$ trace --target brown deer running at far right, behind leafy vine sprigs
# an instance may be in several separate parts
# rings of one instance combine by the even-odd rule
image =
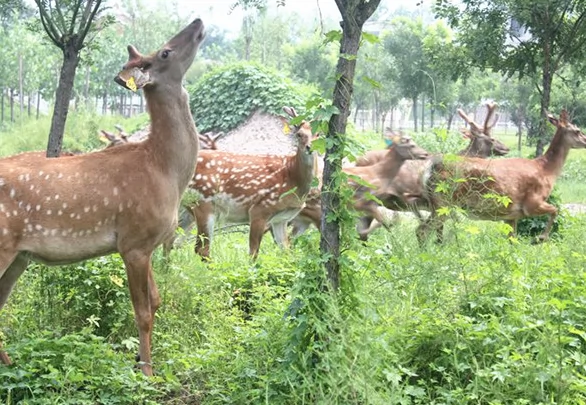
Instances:
[[[549,220],[539,241],[545,241],[557,209],[546,200],[551,194],[557,177],[572,148],[586,148],[586,136],[568,119],[563,110],[557,119],[547,114],[556,126],[556,133],[543,156],[535,159],[510,158],[487,160],[464,157],[457,161],[443,161],[438,157],[424,174],[424,188],[431,206],[429,221],[418,228],[420,241],[427,231],[435,228],[441,242],[441,227],[445,216],[438,216],[440,207],[456,206],[464,209],[472,218],[504,220],[511,225],[511,235],[516,233],[517,220],[525,217],[549,215]],[[448,193],[436,191],[440,182],[450,182]]]

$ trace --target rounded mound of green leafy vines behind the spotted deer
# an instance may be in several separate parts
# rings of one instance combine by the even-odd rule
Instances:
[[[189,88],[191,112],[201,132],[229,131],[256,110],[282,115],[288,105],[301,113],[313,93],[307,85],[251,63],[217,68]]]

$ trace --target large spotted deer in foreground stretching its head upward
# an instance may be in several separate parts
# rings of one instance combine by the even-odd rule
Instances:
[[[161,303],[151,255],[175,232],[197,160],[197,130],[182,81],[203,38],[196,19],[149,55],[128,47],[129,60],[115,80],[143,89],[152,123],[148,140],[63,159],[25,153],[0,160],[0,308],[30,260],[61,265],[119,252],[145,375],[152,375],[151,334]],[[0,359],[10,363],[3,351]]]

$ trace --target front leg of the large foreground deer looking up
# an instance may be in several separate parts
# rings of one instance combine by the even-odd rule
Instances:
[[[151,336],[155,311],[160,304],[159,293],[152,275],[152,251],[120,249],[120,255],[126,266],[130,299],[138,328],[140,368],[144,375],[152,376]]]

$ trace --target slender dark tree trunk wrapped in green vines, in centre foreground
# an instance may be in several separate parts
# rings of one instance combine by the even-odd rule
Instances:
[[[380,0],[336,0],[342,15],[342,39],[333,97],[333,106],[337,109],[337,113],[330,118],[326,135],[319,244],[333,291],[337,291],[340,286],[340,223],[334,219],[335,213],[341,208],[337,183],[342,169],[342,152],[354,88],[356,57],[360,48],[362,27],[379,3]]]

